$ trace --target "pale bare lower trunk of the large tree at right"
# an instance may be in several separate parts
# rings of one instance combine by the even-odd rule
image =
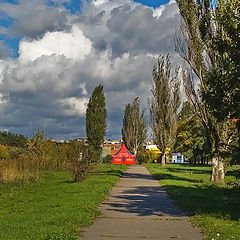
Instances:
[[[224,177],[225,171],[223,159],[221,157],[213,157],[211,181],[222,183],[224,182]]]

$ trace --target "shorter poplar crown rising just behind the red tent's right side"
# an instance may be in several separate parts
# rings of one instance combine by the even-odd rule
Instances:
[[[134,155],[143,147],[147,135],[147,123],[144,113],[145,110],[140,112],[138,97],[125,106],[122,139],[126,147]]]

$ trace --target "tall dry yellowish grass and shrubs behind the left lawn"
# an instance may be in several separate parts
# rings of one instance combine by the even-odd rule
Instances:
[[[40,171],[51,169],[72,169],[74,178],[80,169],[83,179],[90,162],[80,159],[85,148],[77,141],[57,145],[40,131],[27,141],[25,148],[0,146],[0,183],[38,179]]]

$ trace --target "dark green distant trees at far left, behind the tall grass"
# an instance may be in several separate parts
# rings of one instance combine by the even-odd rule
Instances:
[[[26,146],[26,142],[27,138],[22,134],[18,135],[0,131],[0,145],[24,148]]]

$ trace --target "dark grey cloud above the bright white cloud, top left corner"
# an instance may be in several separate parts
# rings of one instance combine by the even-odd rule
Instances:
[[[0,11],[13,20],[6,35],[38,38],[47,31],[67,28],[69,13],[60,5],[47,5],[43,0],[20,0],[18,4],[0,3]]]

